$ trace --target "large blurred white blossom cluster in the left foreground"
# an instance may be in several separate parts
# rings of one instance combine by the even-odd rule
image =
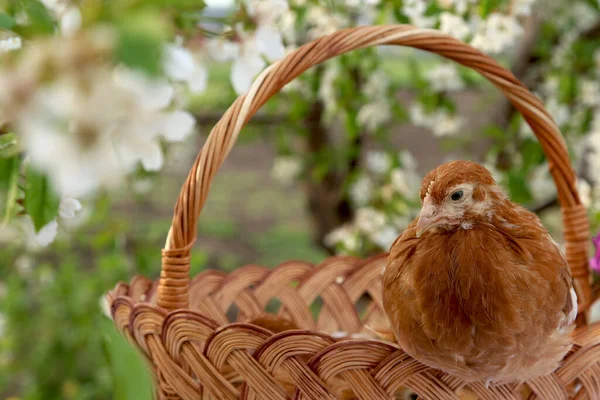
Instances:
[[[65,63],[66,68],[67,56],[76,57],[69,53],[76,40],[61,43],[66,48],[55,49],[57,54],[50,57],[67,55],[51,61]],[[34,73],[49,62],[43,51],[32,48],[30,58],[25,57],[32,64],[25,66]],[[10,96],[0,103],[16,110],[6,115],[21,133],[31,163],[46,171],[61,195],[79,197],[112,187],[138,162],[156,171],[163,164],[159,138],[180,141],[193,130],[191,115],[167,111],[174,90],[166,80],[124,67],[86,66],[76,72],[60,68],[57,65],[54,80],[39,87],[35,75],[22,72],[26,68],[19,71],[23,76],[0,79],[0,92],[13,93],[24,85],[31,90],[27,101],[14,108],[7,108],[13,106]]]

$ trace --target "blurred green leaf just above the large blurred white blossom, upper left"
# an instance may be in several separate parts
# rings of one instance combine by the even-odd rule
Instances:
[[[129,14],[119,23],[119,39],[115,50],[117,62],[159,75],[163,44],[169,37],[169,26],[157,12]]]

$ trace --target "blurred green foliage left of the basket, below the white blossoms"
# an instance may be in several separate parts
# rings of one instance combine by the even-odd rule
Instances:
[[[160,247],[152,235],[133,234],[135,222],[116,216],[108,197],[100,203],[73,240],[31,256],[15,247],[0,252],[0,396],[151,398],[145,366],[102,314],[100,299],[134,270],[155,273]]]

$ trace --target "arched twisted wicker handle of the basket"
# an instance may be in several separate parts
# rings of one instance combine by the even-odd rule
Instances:
[[[383,44],[426,50],[470,67],[498,87],[521,112],[541,143],[558,189],[566,256],[580,313],[589,307],[592,292],[587,257],[590,234],[587,213],[577,193],[575,172],[564,138],[552,117],[525,85],[491,57],[440,31],[410,25],[342,29],[307,43],[265,69],[248,92],[229,107],[210,132],[177,199],[162,253],[157,299],[160,307],[174,310],[188,306],[190,249],[196,240],[198,217],[213,177],[244,125],[267,100],[308,68],[355,49]]]

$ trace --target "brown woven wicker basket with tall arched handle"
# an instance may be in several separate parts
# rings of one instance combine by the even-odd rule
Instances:
[[[423,399],[458,399],[459,379],[428,368],[399,347],[376,340],[337,340],[322,332],[361,332],[383,315],[381,271],[386,255],[367,260],[332,257],[319,265],[286,262],[274,269],[248,265],[227,275],[189,278],[196,223],[215,173],[242,127],[285,84],[337,55],[393,44],[437,53],[486,77],[524,115],[546,154],[562,207],[566,253],[579,297],[572,351],[549,376],[520,385],[469,384],[480,399],[600,399],[600,325],[587,325],[592,301],[589,227],[575,189],[564,140],[541,102],[492,58],[436,30],[407,25],[345,29],[308,43],[267,68],[213,128],[183,185],[160,279],[134,277],[107,294],[117,328],[155,372],[160,399],[326,399],[344,383],[360,399],[390,399],[408,387]],[[369,298],[366,306],[359,299]],[[273,299],[279,315],[305,330],[271,334],[244,323]],[[322,302],[315,319],[310,307]],[[358,304],[360,303],[360,307]],[[237,321],[227,319],[236,308]],[[359,308],[362,310],[359,311]],[[287,373],[286,387],[278,371]]]

